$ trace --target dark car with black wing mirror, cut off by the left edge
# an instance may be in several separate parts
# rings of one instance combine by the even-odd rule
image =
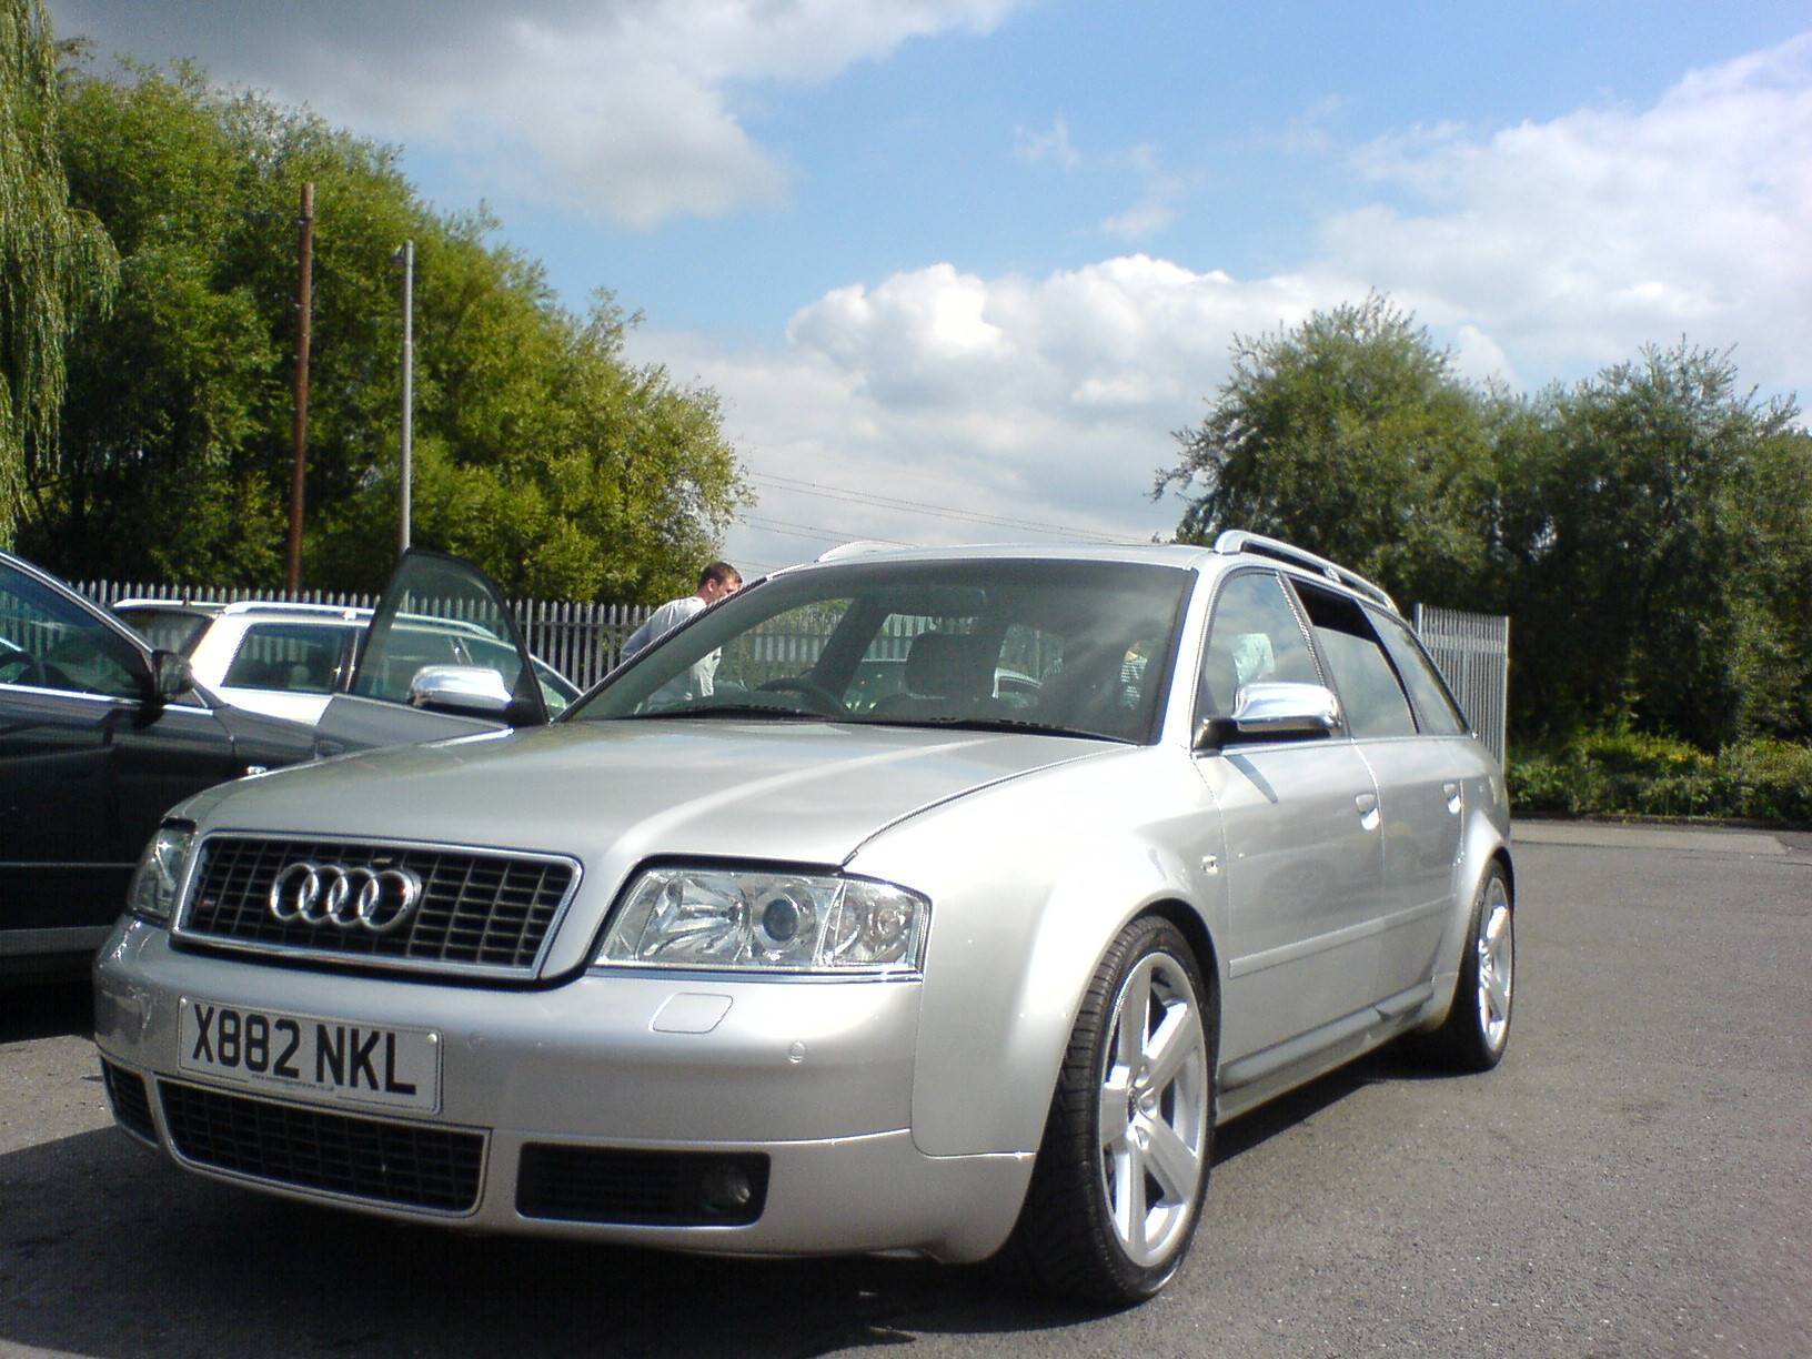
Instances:
[[[221,703],[181,658],[0,553],[0,975],[85,959],[172,803],[313,756],[308,727]]]

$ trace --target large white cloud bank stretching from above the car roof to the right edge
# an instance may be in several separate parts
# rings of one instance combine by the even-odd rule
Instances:
[[[1647,109],[1587,109],[1488,134],[1435,127],[1357,154],[1415,210],[1364,203],[1323,223],[1317,259],[1236,279],[1149,254],[1046,277],[940,263],[803,306],[781,352],[687,346],[728,400],[759,477],[1093,533],[1174,527],[1145,498],[1227,375],[1229,341],[1388,290],[1471,379],[1593,371],[1685,333],[1738,344],[1747,379],[1812,371],[1812,36],[1682,80]],[[1145,161],[1156,174],[1156,158]],[[797,560],[839,536],[1038,538],[797,484],[757,482],[730,547]]]

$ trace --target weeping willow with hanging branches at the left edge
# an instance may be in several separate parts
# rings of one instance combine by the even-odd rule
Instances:
[[[100,223],[69,205],[43,2],[0,0],[0,544],[56,448],[69,337],[105,308],[116,265]]]

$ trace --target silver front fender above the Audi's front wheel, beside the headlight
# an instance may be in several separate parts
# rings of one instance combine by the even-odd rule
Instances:
[[[1216,935],[1203,857],[1219,839],[1187,756],[1142,748],[959,799],[863,848],[852,872],[933,902],[911,1098],[922,1152],[1038,1149],[1082,995],[1127,920],[1181,902]]]

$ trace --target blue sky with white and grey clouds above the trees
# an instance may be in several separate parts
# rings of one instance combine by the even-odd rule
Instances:
[[[49,0],[487,203],[714,390],[745,573],[1142,542],[1236,337],[1388,294],[1460,373],[1812,373],[1812,11],[1721,0]]]

